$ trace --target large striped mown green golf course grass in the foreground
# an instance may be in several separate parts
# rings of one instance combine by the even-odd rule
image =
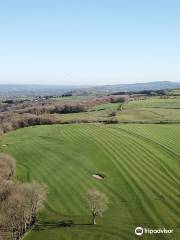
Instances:
[[[179,124],[37,126],[4,135],[0,146],[17,159],[17,180],[49,188],[42,226],[25,240],[134,240],[136,226],[175,231],[141,239],[180,239]],[[96,172],[105,179],[94,179]],[[110,199],[96,226],[86,225],[91,188]],[[76,225],[56,227],[62,220]]]

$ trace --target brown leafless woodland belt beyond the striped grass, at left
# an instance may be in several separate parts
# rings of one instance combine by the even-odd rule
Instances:
[[[104,103],[121,103],[123,105],[128,101],[129,97],[123,95],[105,96],[78,102],[28,101],[12,105],[0,104],[0,134],[28,126],[64,123],[58,114],[85,112],[90,107]]]

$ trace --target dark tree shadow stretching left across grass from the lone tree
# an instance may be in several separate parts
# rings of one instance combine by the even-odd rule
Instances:
[[[35,225],[35,231],[50,230],[55,228],[75,227],[75,226],[91,226],[91,223],[74,223],[73,220],[62,221],[43,221]]]

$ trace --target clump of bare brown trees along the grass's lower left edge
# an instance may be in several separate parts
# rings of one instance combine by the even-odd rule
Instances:
[[[12,181],[16,161],[0,155],[0,239],[19,240],[37,221],[47,194],[45,185]]]

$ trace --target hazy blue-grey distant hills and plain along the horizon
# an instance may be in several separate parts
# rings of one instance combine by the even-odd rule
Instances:
[[[103,86],[61,86],[61,85],[25,85],[1,84],[0,97],[59,96],[71,92],[73,95],[110,94],[119,91],[143,91],[180,88],[180,82],[148,82],[134,84],[114,84]]]

